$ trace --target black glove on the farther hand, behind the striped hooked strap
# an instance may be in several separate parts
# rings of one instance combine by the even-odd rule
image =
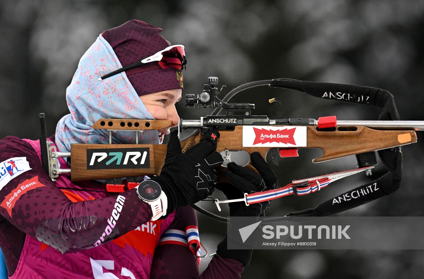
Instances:
[[[229,183],[217,183],[216,189],[224,192],[229,200],[242,198],[243,193],[255,193],[275,189],[277,185],[277,177],[274,174],[268,163],[262,158],[258,152],[251,154],[252,166],[259,172],[256,172],[238,166],[235,163],[229,163],[226,172],[227,179],[237,186]],[[229,203],[230,216],[245,217],[245,216],[265,216],[269,208],[270,201],[262,203],[254,203],[246,206],[244,202]],[[237,226],[236,226],[237,228]],[[244,266],[248,266],[252,256],[253,250],[243,249],[227,249],[227,236],[218,244],[217,253],[224,258],[236,259],[242,262]]]

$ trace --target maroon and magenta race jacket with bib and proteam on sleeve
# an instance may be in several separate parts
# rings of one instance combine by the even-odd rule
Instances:
[[[151,208],[137,197],[135,189],[109,193],[97,181],[73,183],[66,175],[55,183],[44,171],[34,143],[12,136],[0,141],[0,248],[11,278],[35,271],[28,278],[42,278],[40,274],[47,270],[56,276],[55,267],[62,276],[69,276],[57,278],[96,278],[95,272],[131,278],[125,275],[127,271],[135,278],[240,278],[243,264],[234,259],[215,255],[200,275],[187,245],[161,245],[164,233],[197,227],[191,207],[150,221]],[[16,158],[25,158],[31,169],[22,172],[24,160]],[[63,160],[61,164],[61,168],[69,167]],[[112,232],[106,229],[105,234],[111,221]],[[102,244],[94,247],[99,239]],[[101,260],[93,255],[101,255]],[[112,262],[114,269],[106,268],[105,262]]]

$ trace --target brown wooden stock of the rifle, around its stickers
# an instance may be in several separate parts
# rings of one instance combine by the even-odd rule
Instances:
[[[98,122],[100,121],[101,119]],[[119,121],[117,123],[119,124]],[[166,125],[165,122],[164,124]],[[273,125],[273,127],[280,126]],[[99,128],[105,129],[105,127]],[[156,126],[155,128],[157,129]],[[364,126],[335,127],[334,131],[318,130],[315,126],[307,126],[306,129],[307,146],[294,148],[323,149],[324,155],[321,158],[312,160],[314,163],[411,144],[417,141],[416,133],[413,130],[375,130]],[[125,130],[125,128],[121,128],[120,130]],[[202,135],[200,132],[196,132],[190,138],[182,141],[182,152],[187,151],[187,149],[197,144],[201,138]],[[87,158],[88,149],[110,149],[110,152],[114,152],[114,149],[123,148],[148,148],[149,158],[145,158],[148,160],[148,167],[88,169],[87,166],[91,161],[90,158]],[[243,147],[243,126],[235,126],[233,131],[220,131],[220,138],[218,139],[216,151],[245,150],[249,154],[252,152],[259,152],[263,158],[266,158],[266,154],[271,148],[275,147]],[[286,148],[287,147],[284,147],[284,149]],[[79,181],[140,175],[159,175],[165,162],[166,152],[166,144],[72,144],[71,180]],[[250,164],[248,167],[253,169]],[[224,169],[226,168],[221,166],[221,170],[223,171]]]

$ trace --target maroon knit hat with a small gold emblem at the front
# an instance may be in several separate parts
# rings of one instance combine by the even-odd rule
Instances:
[[[102,36],[112,46],[121,65],[125,67],[170,46],[170,42],[165,40],[160,32],[161,28],[140,20],[130,20],[103,31]],[[157,62],[132,68],[125,73],[138,96],[183,88],[181,70],[163,69]]]

